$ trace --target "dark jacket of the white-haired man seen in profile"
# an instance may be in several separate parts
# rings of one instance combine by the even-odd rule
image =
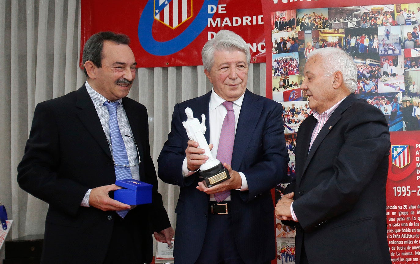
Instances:
[[[309,144],[316,119],[299,127],[294,192],[299,223],[296,263],[304,248],[309,263],[390,264],[385,185],[391,147],[381,110],[350,94]]]

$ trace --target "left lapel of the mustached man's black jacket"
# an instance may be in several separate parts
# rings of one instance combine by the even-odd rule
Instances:
[[[87,131],[98,142],[109,158],[111,158],[111,151],[102,124],[85,85],[77,91],[76,107],[79,108],[76,114],[79,116],[84,127],[86,127]]]

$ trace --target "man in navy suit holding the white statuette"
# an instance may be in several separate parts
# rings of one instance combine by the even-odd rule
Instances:
[[[181,186],[175,209],[175,262],[267,264],[276,256],[270,189],[286,177],[289,161],[283,108],[247,90],[249,48],[232,31],[221,30],[207,41],[202,59],[213,89],[175,105],[171,132],[157,159],[160,179]],[[236,127],[228,138],[221,136],[223,120],[228,116],[225,104],[233,108],[233,129]],[[199,155],[205,150],[189,140],[182,124],[187,119],[187,107],[195,116],[207,117],[205,138],[211,143],[214,158],[220,159],[222,141],[234,140],[231,162],[223,163],[231,178],[211,188],[203,184],[197,172],[209,156]],[[217,202],[223,191],[230,195]]]

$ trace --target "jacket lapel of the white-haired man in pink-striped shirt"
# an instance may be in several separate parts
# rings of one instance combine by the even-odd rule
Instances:
[[[324,124],[321,131],[318,133],[317,137],[315,138],[315,141],[312,143],[312,147],[308,153],[305,165],[302,170],[302,175],[305,172],[307,166],[309,165],[310,161],[312,160],[313,155],[315,154],[318,147],[321,145],[325,137],[328,135],[328,133],[333,130],[334,125],[341,119],[341,114],[346,111],[347,108],[349,108],[355,101],[357,101],[356,96],[354,93],[351,93],[349,96],[347,96],[344,101],[341,102],[341,104],[337,107],[337,109],[331,114],[328,121]],[[314,118],[315,119],[315,118]],[[316,120],[316,119],[315,119]],[[315,127],[315,126],[314,126]],[[310,135],[312,135],[313,129],[310,130]],[[311,136],[308,137],[309,139]]]

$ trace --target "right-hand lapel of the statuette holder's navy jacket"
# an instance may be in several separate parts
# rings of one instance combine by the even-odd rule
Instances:
[[[245,91],[244,101],[242,102],[239,114],[238,125],[236,127],[234,149],[232,153],[232,168],[238,170],[241,161],[244,160],[245,150],[248,148],[253,131],[258,123],[263,105],[258,97],[253,93]]]

